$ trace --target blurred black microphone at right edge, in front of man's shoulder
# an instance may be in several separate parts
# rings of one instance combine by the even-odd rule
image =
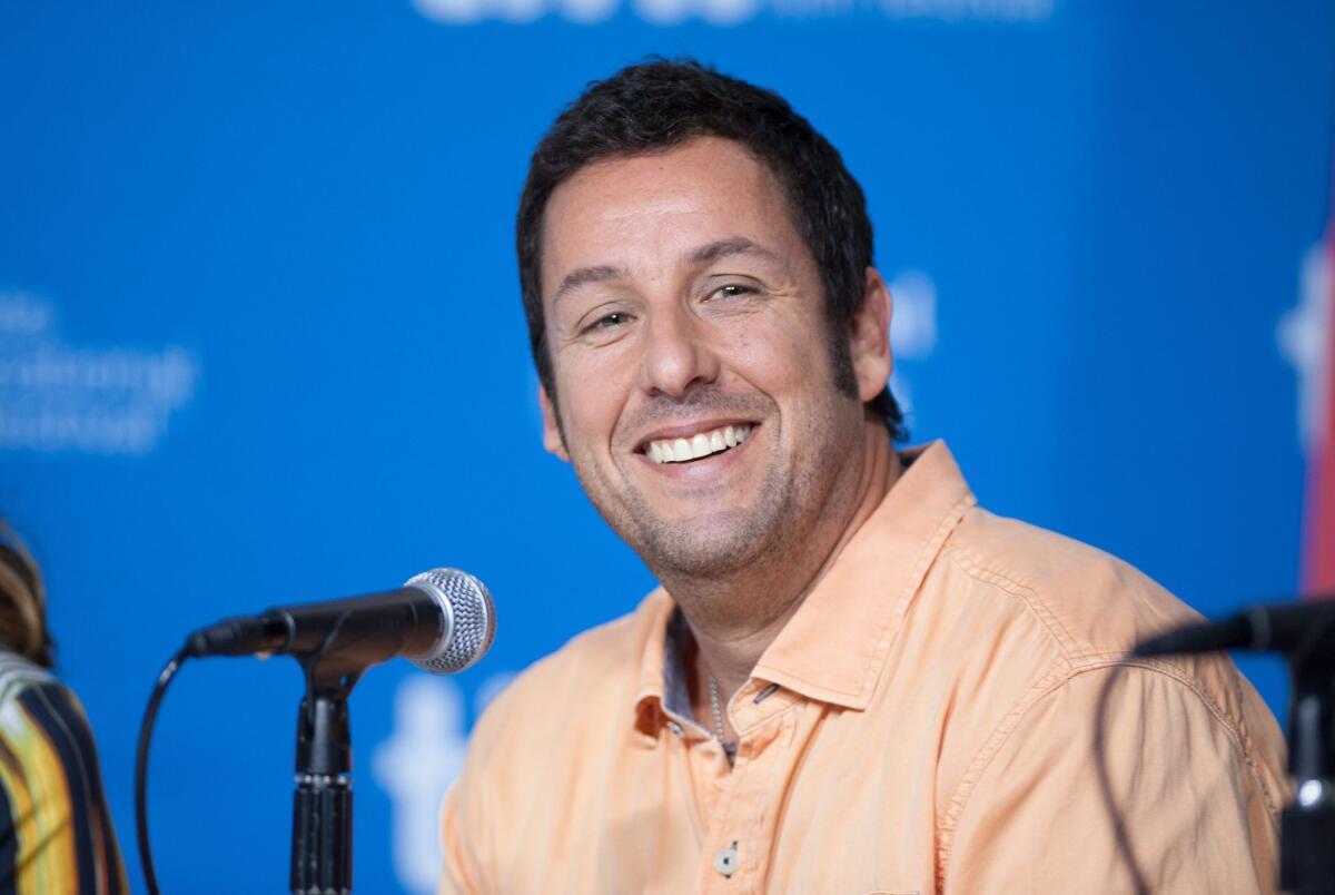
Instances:
[[[1135,656],[1275,649],[1290,656],[1335,647],[1335,600],[1248,606],[1220,621],[1183,625],[1136,644]]]

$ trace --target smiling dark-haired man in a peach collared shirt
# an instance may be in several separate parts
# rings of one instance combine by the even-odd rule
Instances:
[[[1274,888],[1270,712],[1227,660],[1117,664],[1192,613],[896,452],[865,202],[782,99],[594,84],[518,248],[545,443],[662,588],[486,712],[443,891]]]

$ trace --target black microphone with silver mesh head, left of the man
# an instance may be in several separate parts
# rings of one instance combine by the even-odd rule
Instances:
[[[195,657],[336,655],[359,668],[406,656],[433,675],[453,675],[482,659],[495,632],[485,584],[459,569],[431,569],[396,590],[223,618],[187,637],[186,651]]]

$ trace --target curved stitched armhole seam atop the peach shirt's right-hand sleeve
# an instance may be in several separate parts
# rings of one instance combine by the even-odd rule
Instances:
[[[1260,768],[1256,765],[1256,759],[1252,755],[1252,751],[1247,747],[1244,737],[1242,736],[1242,732],[1238,729],[1238,725],[1234,724],[1232,719],[1230,719],[1223,712],[1223,709],[1219,708],[1218,703],[1215,703],[1215,700],[1211,699],[1210,693],[1206,692],[1200,681],[1163,661],[1156,661],[1156,660],[1124,661],[1123,657],[1119,655],[1116,657],[1101,659],[1097,661],[1081,664],[1075,668],[1069,668],[1064,673],[1061,673],[1055,668],[1053,671],[1044,675],[1039,681],[1036,681],[1033,687],[1031,687],[1029,691],[1020,697],[1015,708],[1012,708],[1001,719],[1001,721],[997,723],[996,728],[993,728],[992,731],[992,735],[988,736],[987,741],[984,741],[983,747],[979,749],[973,761],[969,763],[968,769],[965,769],[964,776],[960,779],[960,783],[956,785],[955,792],[951,796],[951,803],[947,807],[945,815],[941,819],[940,826],[937,827],[936,875],[939,880],[945,879],[945,870],[947,864],[949,863],[951,847],[955,844],[953,843],[955,830],[956,826],[959,824],[960,818],[964,814],[964,810],[968,807],[971,796],[973,795],[973,787],[977,784],[980,779],[983,779],[983,775],[992,764],[992,759],[996,757],[997,752],[1001,751],[1001,747],[1005,745],[1005,741],[1011,737],[1011,733],[1013,733],[1015,729],[1020,725],[1020,721],[1024,717],[1024,715],[1028,713],[1029,709],[1033,708],[1040,700],[1057,692],[1059,689],[1061,689],[1063,685],[1075,680],[1077,676],[1084,675],[1087,672],[1101,671],[1105,668],[1141,669],[1163,675],[1164,677],[1169,677],[1177,681],[1179,684],[1189,689],[1192,693],[1195,693],[1196,697],[1200,700],[1200,703],[1215,719],[1215,721],[1224,728],[1224,732],[1228,735],[1228,739],[1238,749],[1238,753],[1242,757],[1243,764],[1251,773],[1252,781],[1260,791],[1262,800],[1266,804],[1267,814],[1270,814],[1271,823],[1275,824],[1279,823],[1278,822],[1279,807],[1275,800],[1275,795],[1266,784],[1266,779],[1262,775]]]

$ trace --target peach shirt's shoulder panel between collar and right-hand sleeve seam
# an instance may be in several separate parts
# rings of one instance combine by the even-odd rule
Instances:
[[[1129,562],[981,508],[964,517],[945,557],[1036,616],[1071,661],[1121,655],[1144,637],[1200,618]]]

